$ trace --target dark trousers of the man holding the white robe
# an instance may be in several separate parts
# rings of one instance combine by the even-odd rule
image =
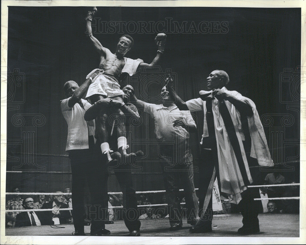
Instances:
[[[203,163],[199,166],[199,201],[200,201],[200,216],[203,212],[203,203],[207,193],[207,189],[214,171],[215,163],[211,150],[202,149],[201,151],[201,159],[203,159]],[[217,177],[217,174],[216,174]],[[222,183],[221,183],[222,185]],[[238,203],[238,208],[241,211],[243,216],[242,224],[244,227],[250,228],[258,228],[258,209],[256,207],[256,203],[254,201],[255,197],[254,190],[246,189],[241,193],[242,200]],[[210,198],[208,207],[201,218],[199,226],[203,226],[204,228],[211,226],[211,221],[213,218],[213,209],[212,209],[212,196]]]

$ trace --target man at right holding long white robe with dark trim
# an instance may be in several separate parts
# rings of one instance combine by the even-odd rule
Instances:
[[[170,95],[177,101],[180,110],[189,109],[204,112],[204,126],[201,140],[200,208],[201,218],[192,233],[211,231],[212,199],[211,193],[218,176],[222,193],[232,195],[231,202],[238,204],[243,216],[243,226],[239,234],[259,232],[258,212],[252,193],[247,189],[253,180],[248,167],[248,158],[257,159],[261,166],[273,166],[267,140],[254,102],[237,91],[229,91],[225,85],[229,76],[225,71],[215,70],[207,77],[207,88],[200,91],[200,98],[182,101],[173,87],[167,87]],[[245,139],[250,139],[245,149]]]

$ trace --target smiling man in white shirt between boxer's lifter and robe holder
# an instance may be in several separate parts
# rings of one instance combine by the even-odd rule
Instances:
[[[161,90],[162,104],[150,104],[130,94],[130,102],[137,109],[150,115],[155,123],[160,154],[165,160],[162,171],[166,187],[166,200],[170,231],[182,228],[181,205],[178,198],[180,186],[185,192],[187,223],[196,224],[199,204],[193,183],[193,159],[189,149],[189,132],[196,131],[196,124],[188,110],[180,111],[172,102],[166,87]],[[169,143],[172,141],[173,143]]]

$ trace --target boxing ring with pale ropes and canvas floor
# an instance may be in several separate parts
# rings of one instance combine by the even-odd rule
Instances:
[[[54,154],[36,154],[40,156],[60,156],[68,157],[67,155],[54,155]],[[6,171],[7,174],[71,174],[71,172],[61,172],[61,171],[39,171],[39,170],[20,170],[20,171]],[[132,174],[157,174],[157,173],[144,173],[135,172]],[[160,173],[159,173],[160,174]],[[272,187],[272,186],[300,186],[300,183],[292,184],[280,184],[280,185],[256,185],[248,186],[248,188],[256,187]],[[198,190],[198,188],[196,188]],[[183,191],[183,189],[180,189]],[[166,190],[154,190],[154,191],[136,191],[136,194],[140,193],[165,193]],[[15,193],[7,192],[6,195],[58,195],[59,193],[35,193],[35,192],[24,192]],[[63,193],[71,194],[71,193]],[[108,192],[109,195],[122,194],[122,192]],[[282,200],[282,199],[300,199],[300,197],[274,197],[274,198],[254,198],[254,200]],[[181,205],[184,205],[182,202]],[[137,207],[158,207],[166,206],[167,204],[150,204],[150,205],[138,205]],[[117,209],[123,208],[123,206],[110,206],[108,208]],[[59,210],[73,210],[72,208],[58,209]],[[16,209],[16,210],[6,210],[6,212],[44,212],[53,211],[53,209]],[[300,215],[295,213],[284,214],[284,213],[274,213],[265,214],[260,213],[259,227],[260,232],[252,235],[252,237],[299,237],[300,234]],[[242,235],[237,234],[238,228],[242,225],[242,215],[239,213],[230,214],[217,214],[213,216],[212,232],[207,233],[189,233],[189,228],[191,227],[187,224],[187,220],[183,219],[183,228],[177,231],[169,231],[169,219],[168,218],[155,218],[155,219],[142,219],[140,234],[141,236],[216,236],[216,237],[240,237]],[[6,235],[72,235],[74,232],[73,224],[60,224],[62,229],[51,228],[50,225],[42,226],[30,226],[30,227],[14,227],[6,228]],[[110,230],[111,234],[109,236],[128,236],[129,231],[125,226],[124,220],[116,220],[114,224],[106,224],[106,229]],[[85,235],[90,235],[90,227],[84,227]]]

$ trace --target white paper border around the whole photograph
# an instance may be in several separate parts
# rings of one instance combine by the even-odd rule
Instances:
[[[1,1],[1,67],[7,67],[8,6],[122,6],[122,7],[253,7],[301,8],[301,108],[306,106],[306,1]],[[1,77],[2,79],[2,77]],[[1,220],[0,244],[303,244],[306,243],[306,167],[300,168],[300,237],[77,237],[77,236],[6,236],[6,81],[1,80]],[[305,121],[300,117],[300,139],[306,140]],[[305,144],[300,145],[300,159],[306,159]],[[301,161],[303,163],[303,161]],[[273,224],[271,224],[273,225]],[[205,234],[204,234],[205,235]]]

